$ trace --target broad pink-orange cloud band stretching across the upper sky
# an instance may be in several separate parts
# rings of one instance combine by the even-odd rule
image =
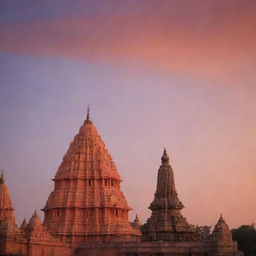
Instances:
[[[150,13],[65,18],[4,25],[0,49],[112,65],[138,64],[167,72],[222,75],[253,61],[255,27],[250,9],[227,17],[206,12],[184,19]]]

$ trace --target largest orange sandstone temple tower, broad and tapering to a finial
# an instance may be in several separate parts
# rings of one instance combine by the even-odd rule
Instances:
[[[44,225],[75,247],[86,241],[137,239],[121,178],[96,127],[89,119],[71,142],[55,175],[54,191],[43,211]]]

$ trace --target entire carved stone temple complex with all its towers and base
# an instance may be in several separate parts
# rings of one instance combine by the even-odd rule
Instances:
[[[43,207],[20,227],[3,173],[0,177],[0,256],[242,256],[224,218],[213,231],[189,224],[181,214],[174,172],[164,149],[151,216],[129,221],[121,178],[90,119],[79,132],[53,179]]]

